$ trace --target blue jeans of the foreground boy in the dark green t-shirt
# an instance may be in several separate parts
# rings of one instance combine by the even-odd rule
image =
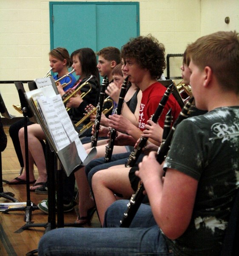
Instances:
[[[116,201],[105,214],[106,228],[59,228],[39,242],[39,256],[173,256],[154,221],[151,207],[141,204],[130,228],[119,228],[127,200]]]

